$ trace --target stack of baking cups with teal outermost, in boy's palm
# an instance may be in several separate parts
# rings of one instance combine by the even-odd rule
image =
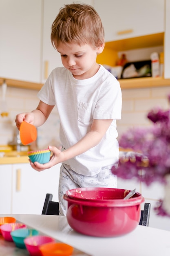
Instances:
[[[49,149],[36,150],[28,152],[31,162],[38,162],[40,164],[46,164],[50,161],[51,151]]]

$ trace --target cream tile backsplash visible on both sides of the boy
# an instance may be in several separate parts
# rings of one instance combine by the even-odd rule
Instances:
[[[7,88],[9,116],[0,116],[1,145],[6,145],[13,140],[16,115],[20,112],[29,112],[38,106],[37,93],[36,90]],[[169,108],[168,94],[170,94],[170,86],[122,90],[122,117],[117,121],[118,140],[121,134],[131,127],[150,126],[151,123],[146,117],[148,111],[157,106]],[[60,146],[59,118],[56,108],[53,109],[46,123],[38,128],[37,143],[39,148],[44,148],[51,143]]]

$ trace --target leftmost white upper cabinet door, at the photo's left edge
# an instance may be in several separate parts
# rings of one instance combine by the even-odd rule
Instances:
[[[0,77],[40,82],[42,0],[0,0]]]

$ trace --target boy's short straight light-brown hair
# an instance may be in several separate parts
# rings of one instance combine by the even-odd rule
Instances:
[[[104,28],[97,11],[88,4],[64,4],[51,27],[51,43],[54,48],[60,43],[101,46]]]

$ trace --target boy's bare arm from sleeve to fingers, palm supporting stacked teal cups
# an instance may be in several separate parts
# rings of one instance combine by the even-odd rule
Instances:
[[[54,146],[49,146],[49,149],[53,152],[53,156],[51,157],[50,162],[46,164],[39,164],[38,162],[35,162],[34,164],[31,163],[31,166],[37,171],[42,171],[54,166],[55,164],[64,162],[68,159],[71,159],[72,157],[86,152],[90,148],[93,148],[94,146],[99,144],[106,131],[108,130],[109,126],[111,125],[112,121],[113,119],[93,119],[91,130],[76,144],[62,152]]]

